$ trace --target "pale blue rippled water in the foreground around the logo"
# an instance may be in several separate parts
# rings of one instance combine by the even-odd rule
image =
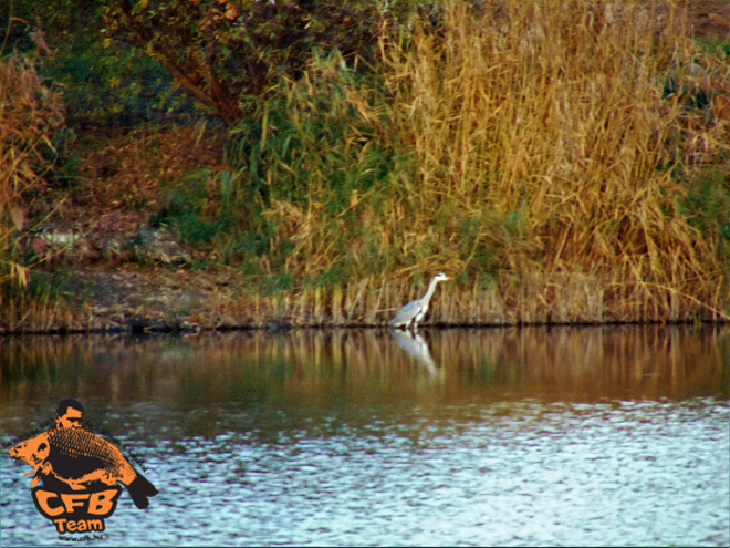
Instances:
[[[165,441],[138,443],[160,494],[144,513],[119,504],[104,542],[730,540],[727,402],[510,407],[484,406],[477,422],[429,423],[416,440],[378,420],[343,424],[336,435],[299,431],[275,443],[234,431],[178,440],[184,451]],[[20,479],[15,463],[0,462],[3,545],[55,544],[32,508],[28,478]]]

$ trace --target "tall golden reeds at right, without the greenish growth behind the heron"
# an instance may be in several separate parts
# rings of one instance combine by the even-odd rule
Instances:
[[[583,314],[544,318],[728,319],[728,265],[675,207],[671,174],[728,154],[730,112],[716,107],[707,123],[687,108],[709,71],[693,62],[682,14],[659,3],[450,2],[440,35],[419,32],[415,51],[384,40],[419,158],[420,207],[398,224],[404,239],[448,200],[455,218],[483,219],[481,241],[521,277],[513,300],[526,291],[554,309],[576,280],[598,286],[576,287],[578,298],[593,292],[595,311],[609,311],[585,302]]]

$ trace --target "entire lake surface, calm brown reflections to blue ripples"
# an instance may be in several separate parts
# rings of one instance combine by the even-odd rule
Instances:
[[[730,325],[0,339],[8,455],[80,399],[159,494],[104,545],[730,544]]]

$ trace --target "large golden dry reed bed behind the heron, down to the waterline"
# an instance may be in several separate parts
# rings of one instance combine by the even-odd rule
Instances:
[[[257,310],[302,324],[379,323],[378,310],[403,304],[442,270],[466,280],[446,292],[437,322],[727,320],[720,235],[689,225],[671,175],[681,169],[692,180],[708,166],[722,169],[730,154],[723,65],[695,62],[671,3],[484,7],[449,3],[438,35],[417,31],[414,50],[384,34],[386,121],[367,90],[346,94],[379,135],[371,143],[399,135],[417,158],[413,176],[390,180],[388,199],[353,193],[357,229],[317,201],[326,195],[322,169],[313,169],[306,207],[272,204],[275,240],[293,242],[285,268],[294,279],[341,261],[338,238],[352,234],[359,281],[330,299],[304,289],[257,300]],[[321,80],[315,69],[334,77],[332,66],[313,66],[312,80]],[[687,106],[700,91],[711,108]],[[359,136],[353,124],[345,147]],[[377,250],[372,258],[387,275],[368,277],[365,249]],[[509,281],[481,291],[489,265]]]

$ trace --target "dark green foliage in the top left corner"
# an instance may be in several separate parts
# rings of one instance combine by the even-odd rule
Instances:
[[[104,48],[104,9],[95,0],[0,1],[4,54],[33,59],[38,75],[62,92],[75,130],[199,117],[197,103],[155,60],[128,43]]]

